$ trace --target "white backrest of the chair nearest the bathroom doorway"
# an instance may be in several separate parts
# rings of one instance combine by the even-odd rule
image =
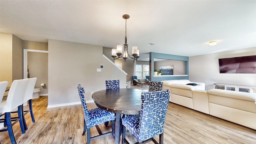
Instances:
[[[37,78],[28,78],[28,86],[26,88],[23,103],[32,99],[34,88],[35,88],[35,85],[36,85],[36,80],[37,80]]]

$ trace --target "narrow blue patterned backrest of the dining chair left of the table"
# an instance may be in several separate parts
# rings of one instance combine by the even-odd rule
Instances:
[[[77,89],[78,89],[78,94],[80,96],[80,100],[82,103],[82,107],[84,109],[84,120],[86,123],[86,127],[88,127],[87,121],[89,120],[90,117],[89,117],[89,112],[88,112],[87,105],[86,105],[85,98],[84,98],[84,88],[81,86],[81,84],[78,84]]]

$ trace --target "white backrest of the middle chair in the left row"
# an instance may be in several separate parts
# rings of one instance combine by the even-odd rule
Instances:
[[[12,82],[6,99],[6,104],[2,112],[11,112],[14,108],[23,104],[27,85],[28,79],[14,80]]]

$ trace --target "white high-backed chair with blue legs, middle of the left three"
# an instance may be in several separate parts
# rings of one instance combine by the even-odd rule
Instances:
[[[17,122],[20,123],[20,128],[22,134],[25,133],[23,120],[22,120],[22,104],[24,99],[24,94],[26,87],[28,85],[28,79],[14,80],[8,92],[6,101],[2,102],[0,105],[0,113],[3,113],[5,118],[0,122],[4,122],[7,128],[1,129],[0,132],[8,131],[10,140],[12,144],[16,144],[12,126]],[[18,118],[12,122],[11,112],[18,107]],[[3,115],[2,114],[2,115]]]

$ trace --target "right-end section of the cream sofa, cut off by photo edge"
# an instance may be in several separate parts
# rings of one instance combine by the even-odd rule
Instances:
[[[210,89],[210,115],[256,130],[256,94]]]

